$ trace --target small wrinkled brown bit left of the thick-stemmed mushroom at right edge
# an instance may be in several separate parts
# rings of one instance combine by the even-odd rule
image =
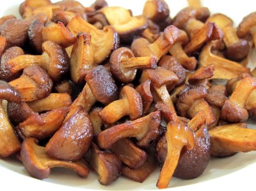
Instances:
[[[222,108],[227,100],[227,90],[224,85],[214,85],[207,89],[207,96],[204,98],[209,104]]]

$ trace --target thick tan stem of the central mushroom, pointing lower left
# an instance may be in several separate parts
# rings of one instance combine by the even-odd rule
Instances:
[[[115,123],[123,116],[129,115],[129,103],[127,99],[119,99],[115,102],[105,106],[105,108],[99,112],[101,118],[105,123]],[[104,117],[103,117],[104,116]],[[107,119],[107,122],[105,121]]]

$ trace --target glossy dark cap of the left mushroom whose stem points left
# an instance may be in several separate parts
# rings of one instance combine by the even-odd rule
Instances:
[[[49,56],[48,74],[54,81],[59,81],[69,71],[69,56],[65,49],[54,41],[45,41],[42,49]]]

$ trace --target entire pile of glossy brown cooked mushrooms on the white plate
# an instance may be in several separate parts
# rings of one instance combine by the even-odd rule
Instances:
[[[143,182],[158,165],[167,188],[211,156],[255,151],[256,12],[234,28],[188,2],[173,19],[164,0],[138,16],[104,0],[25,0],[23,19],[1,17],[0,158],[38,179],[92,169],[103,185]]]

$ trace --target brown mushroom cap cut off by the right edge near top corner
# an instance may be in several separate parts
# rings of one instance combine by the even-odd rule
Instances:
[[[256,12],[253,12],[243,18],[242,22],[237,27],[237,35],[240,38],[246,37],[250,29],[256,25]]]

